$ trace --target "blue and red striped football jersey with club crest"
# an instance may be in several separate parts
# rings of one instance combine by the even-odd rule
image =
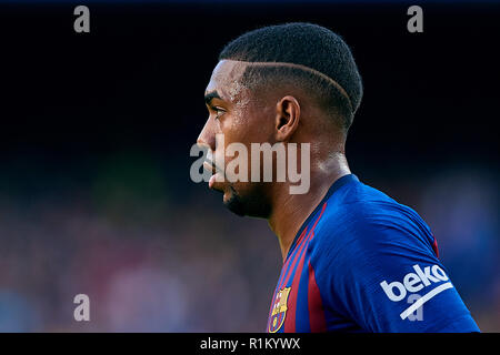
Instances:
[[[337,180],[290,247],[269,333],[479,332],[412,209]]]

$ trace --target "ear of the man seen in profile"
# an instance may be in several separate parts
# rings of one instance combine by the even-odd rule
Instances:
[[[289,141],[299,126],[300,105],[296,98],[283,97],[276,104],[276,140]]]

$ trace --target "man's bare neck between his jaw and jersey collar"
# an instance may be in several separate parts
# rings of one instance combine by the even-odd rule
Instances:
[[[308,193],[290,194],[289,184],[277,187],[268,221],[278,236],[283,262],[302,224],[328,193],[333,182],[347,174],[350,174],[350,170],[346,156],[339,153],[311,166]]]

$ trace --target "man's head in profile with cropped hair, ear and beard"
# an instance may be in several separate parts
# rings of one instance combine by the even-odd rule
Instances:
[[[216,156],[233,142],[249,152],[251,143],[310,143],[312,162],[343,153],[361,97],[361,78],[339,36],[310,23],[258,29],[221,51],[206,90],[210,116],[198,143]],[[216,146],[216,134],[223,134],[223,146]],[[261,217],[272,211],[277,184],[210,182],[231,211]]]

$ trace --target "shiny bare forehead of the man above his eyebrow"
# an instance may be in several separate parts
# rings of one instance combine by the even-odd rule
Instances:
[[[233,101],[244,89],[241,77],[247,65],[239,61],[221,60],[212,71],[206,93],[217,91],[223,99]]]

